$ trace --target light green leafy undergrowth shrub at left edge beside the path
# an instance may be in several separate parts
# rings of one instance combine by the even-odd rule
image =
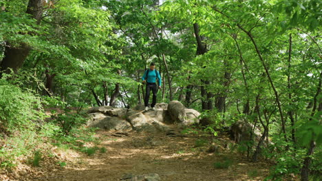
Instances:
[[[50,105],[63,112],[44,121],[47,116],[43,105],[48,105],[48,101],[28,88],[20,88],[21,82],[16,80],[0,79],[1,168],[12,169],[21,160],[33,167],[41,167],[41,160],[52,155],[50,150],[55,144],[85,152],[85,143],[98,143],[98,138],[94,138],[95,129],[79,128],[85,118],[68,110],[63,101],[57,104],[56,99]],[[90,149],[86,152],[92,154]]]

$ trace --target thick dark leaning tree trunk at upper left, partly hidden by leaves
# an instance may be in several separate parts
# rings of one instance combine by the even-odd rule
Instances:
[[[43,14],[43,0],[29,0],[26,13],[31,14],[39,24]],[[19,47],[12,47],[10,42],[6,42],[4,58],[0,64],[0,77],[2,77],[2,72],[10,73],[9,69],[17,73],[29,53],[30,47],[25,43],[21,43]]]

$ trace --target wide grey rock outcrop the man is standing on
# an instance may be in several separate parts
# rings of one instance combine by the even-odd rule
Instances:
[[[199,123],[200,113],[193,109],[184,108],[180,101],[171,101],[169,104],[155,104],[155,110],[142,111],[143,105],[134,110],[102,106],[87,110],[89,127],[105,130],[137,130],[158,132],[170,130],[171,123],[191,125]],[[136,110],[138,109],[138,110]]]

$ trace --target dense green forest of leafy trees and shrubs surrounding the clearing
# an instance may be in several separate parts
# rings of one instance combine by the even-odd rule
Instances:
[[[275,162],[270,180],[321,180],[321,15],[318,0],[0,0],[1,169],[51,144],[87,152],[83,110],[144,104],[155,62],[158,102],[215,135],[255,125],[245,157]]]

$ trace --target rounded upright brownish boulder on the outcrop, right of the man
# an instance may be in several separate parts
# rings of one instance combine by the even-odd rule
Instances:
[[[180,101],[171,101],[168,112],[172,122],[182,123],[186,119],[186,110]]]

